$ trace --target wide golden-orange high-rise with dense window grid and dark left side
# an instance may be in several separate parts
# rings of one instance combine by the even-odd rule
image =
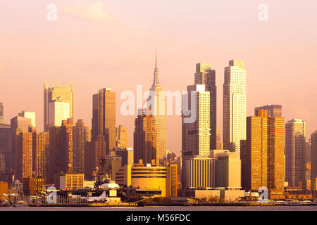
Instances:
[[[247,140],[241,141],[242,188],[261,186],[283,191],[285,181],[284,117],[268,117],[258,110],[247,117]]]

